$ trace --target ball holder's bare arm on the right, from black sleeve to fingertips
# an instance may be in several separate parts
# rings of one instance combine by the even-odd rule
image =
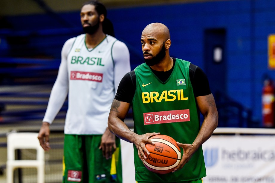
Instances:
[[[210,138],[218,125],[218,111],[213,95],[209,94],[206,96],[199,96],[196,97],[196,100],[199,110],[204,116],[204,121],[196,139],[192,144],[182,144],[177,142],[177,144],[183,148],[184,154],[175,171],[181,169],[191,159],[196,150],[198,150],[198,148]]]

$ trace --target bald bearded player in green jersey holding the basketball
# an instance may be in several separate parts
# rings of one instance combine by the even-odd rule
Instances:
[[[218,124],[208,79],[198,66],[169,56],[171,40],[164,24],[149,24],[142,32],[141,46],[145,63],[120,81],[109,114],[109,130],[135,144],[138,183],[202,182],[206,171],[201,145]],[[134,132],[123,123],[131,105]],[[199,112],[204,116],[201,127]],[[150,154],[145,144],[154,144],[149,137],[157,134],[171,136],[182,148],[181,161],[173,173],[152,173],[143,165]]]

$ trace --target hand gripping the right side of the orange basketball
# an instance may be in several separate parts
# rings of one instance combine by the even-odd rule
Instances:
[[[183,155],[181,157],[181,161],[178,164],[178,166],[173,170],[172,172],[175,172],[182,167],[191,159],[192,155],[195,153],[196,149],[193,147],[192,144],[182,144],[180,142],[177,142],[178,146],[183,148]]]

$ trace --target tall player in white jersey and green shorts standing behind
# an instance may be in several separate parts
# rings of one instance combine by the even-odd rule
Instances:
[[[111,159],[120,146],[119,138],[108,130],[107,119],[117,86],[130,71],[130,56],[123,42],[103,32],[106,14],[98,1],[83,5],[80,17],[85,34],[69,39],[62,48],[58,76],[39,131],[41,146],[49,150],[49,125],[68,94],[63,182],[114,182]],[[116,170],[117,182],[122,182],[121,166],[112,170]]]

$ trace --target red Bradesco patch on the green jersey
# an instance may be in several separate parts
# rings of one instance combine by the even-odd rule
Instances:
[[[160,124],[190,121],[189,109],[143,113],[144,124]]]

